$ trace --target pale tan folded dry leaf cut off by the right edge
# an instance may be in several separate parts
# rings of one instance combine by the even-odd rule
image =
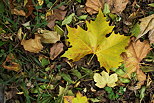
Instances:
[[[137,39],[149,32],[150,43],[154,42],[154,14],[140,19],[140,34]]]

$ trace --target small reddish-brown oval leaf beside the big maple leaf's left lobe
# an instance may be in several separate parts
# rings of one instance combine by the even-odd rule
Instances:
[[[54,60],[62,51],[63,43],[56,43],[50,48],[50,59]]]

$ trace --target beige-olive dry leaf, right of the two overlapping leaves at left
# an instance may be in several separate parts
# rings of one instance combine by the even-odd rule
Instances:
[[[43,43],[56,43],[60,40],[60,35],[57,34],[55,31],[49,31],[49,30],[39,30],[40,34],[38,34],[41,37],[41,42]]]

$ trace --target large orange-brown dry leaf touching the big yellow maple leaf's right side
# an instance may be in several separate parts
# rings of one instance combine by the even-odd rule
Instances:
[[[131,73],[136,72],[139,81],[137,83],[137,89],[139,89],[140,86],[143,85],[144,81],[146,80],[146,75],[142,72],[142,70],[140,70],[139,63],[142,61],[144,57],[146,57],[150,50],[151,48],[148,41],[134,41],[134,38],[132,38],[132,41],[130,42],[130,45],[128,46],[126,53],[122,54],[124,64],[127,68],[126,74],[123,75],[123,77],[130,77]]]

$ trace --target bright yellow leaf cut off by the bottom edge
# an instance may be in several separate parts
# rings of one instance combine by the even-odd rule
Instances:
[[[72,103],[88,103],[86,96],[83,96],[80,92],[76,94],[76,97],[73,98]]]

